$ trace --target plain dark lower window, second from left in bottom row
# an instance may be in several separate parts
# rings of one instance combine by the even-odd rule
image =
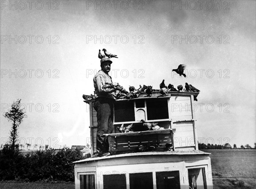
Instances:
[[[126,189],[125,174],[103,175],[103,189]]]

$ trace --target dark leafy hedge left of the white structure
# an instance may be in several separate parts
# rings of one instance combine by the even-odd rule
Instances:
[[[74,161],[83,159],[79,149],[49,149],[23,155],[16,146],[5,145],[0,151],[0,180],[74,181]]]

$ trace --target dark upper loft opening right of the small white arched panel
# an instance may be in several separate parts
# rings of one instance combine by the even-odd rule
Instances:
[[[148,120],[168,119],[168,101],[167,99],[147,99]]]

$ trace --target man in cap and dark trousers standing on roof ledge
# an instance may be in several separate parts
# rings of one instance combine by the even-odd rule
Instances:
[[[108,75],[111,70],[112,61],[104,57],[100,61],[101,70],[95,74],[93,84],[95,88],[96,101],[93,108],[97,111],[97,136],[96,136],[96,157],[109,155],[108,138],[103,134],[111,134],[113,131],[113,109],[116,101],[116,90],[122,87],[113,86],[112,78]]]

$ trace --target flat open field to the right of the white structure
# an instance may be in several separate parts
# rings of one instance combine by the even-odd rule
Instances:
[[[203,151],[212,154],[210,157],[214,188],[256,188],[256,149]]]

